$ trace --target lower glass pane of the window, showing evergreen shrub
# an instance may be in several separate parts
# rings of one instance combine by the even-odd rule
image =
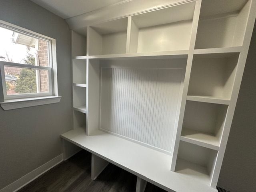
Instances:
[[[4,72],[7,95],[49,92],[48,70],[4,66]]]

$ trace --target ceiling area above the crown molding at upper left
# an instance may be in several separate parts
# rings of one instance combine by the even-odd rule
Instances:
[[[88,13],[124,0],[31,0],[63,19]],[[127,1],[127,0],[126,0]]]

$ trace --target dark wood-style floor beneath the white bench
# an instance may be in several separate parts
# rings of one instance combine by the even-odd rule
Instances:
[[[91,154],[80,151],[18,192],[135,192],[136,176],[109,164],[91,180]],[[165,192],[150,183],[145,192]]]

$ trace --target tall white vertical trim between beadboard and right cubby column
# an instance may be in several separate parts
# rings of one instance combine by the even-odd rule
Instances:
[[[172,144],[172,146],[174,146],[174,147],[172,148],[172,151],[171,151],[171,154],[173,155],[171,171],[175,171],[176,161],[177,161],[177,156],[178,156],[180,135],[181,135],[181,130],[182,130],[185,106],[186,106],[186,98],[187,98],[187,94],[188,94],[188,84],[189,84],[189,80],[190,80],[190,72],[191,72],[191,68],[192,68],[194,47],[195,47],[195,43],[196,43],[196,33],[197,33],[197,28],[198,28],[200,8],[201,8],[201,0],[198,0],[198,1],[196,1],[194,16],[193,16],[192,32],[191,32],[191,38],[190,38],[190,48],[189,48],[189,53],[188,53],[186,73],[185,73],[185,79],[184,79],[184,87],[183,87],[183,93],[182,93],[182,102],[180,105],[180,113],[179,113],[179,119],[178,119],[178,126],[177,126],[177,129],[174,130],[174,137],[173,137],[173,144]]]

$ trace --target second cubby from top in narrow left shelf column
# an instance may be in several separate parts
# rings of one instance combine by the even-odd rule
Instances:
[[[73,84],[86,84],[86,60],[73,59]]]

